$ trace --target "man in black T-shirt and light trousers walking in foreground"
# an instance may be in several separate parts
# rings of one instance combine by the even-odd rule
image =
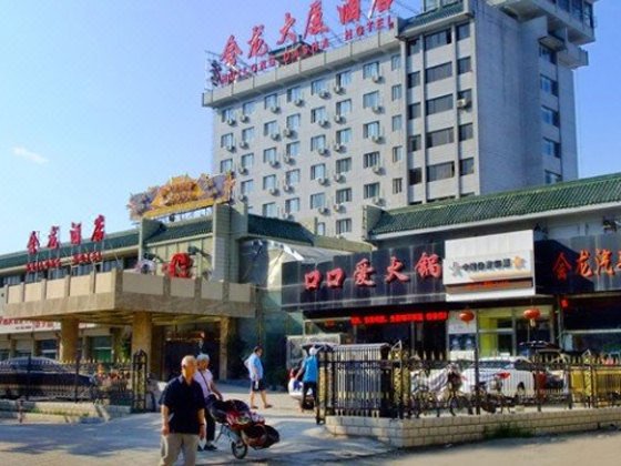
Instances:
[[[181,361],[181,375],[167,383],[162,399],[160,466],[172,466],[183,450],[184,466],[196,464],[198,438],[205,438],[205,398],[194,379],[196,359]]]

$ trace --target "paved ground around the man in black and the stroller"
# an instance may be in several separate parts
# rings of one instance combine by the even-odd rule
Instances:
[[[218,384],[225,398],[247,402],[245,386]],[[273,408],[258,413],[281,434],[268,449],[248,449],[245,464],[317,464],[362,459],[390,450],[368,438],[335,438],[315,424],[310,413],[297,411],[287,393],[269,393]],[[100,424],[18,424],[0,421],[0,460],[4,465],[29,466],[119,465],[154,466],[159,460],[160,414],[131,415]],[[218,427],[220,428],[220,427]],[[216,430],[216,435],[220,430]],[[217,452],[200,452],[197,465],[237,462],[223,436]],[[179,464],[182,464],[180,462]]]

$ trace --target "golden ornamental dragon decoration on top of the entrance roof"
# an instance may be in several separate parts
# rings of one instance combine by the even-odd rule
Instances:
[[[202,174],[196,180],[187,175],[175,176],[163,186],[132,194],[128,204],[130,217],[134,221],[154,219],[227,203],[234,186],[235,179],[231,172],[216,176]]]

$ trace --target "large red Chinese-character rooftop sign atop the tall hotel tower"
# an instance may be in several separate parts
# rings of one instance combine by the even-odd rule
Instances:
[[[389,16],[393,0],[374,0],[368,14],[363,14],[360,0],[342,0],[336,7],[340,24],[345,28],[345,41],[363,38],[367,34],[395,28],[395,20]],[[265,40],[265,26],[257,24],[252,28],[247,40],[237,40],[233,34],[228,37],[220,60],[211,61],[211,78],[213,85],[227,85],[241,79],[248,78],[259,71],[275,67],[278,62],[288,64],[294,61],[310,57],[330,47],[326,37],[335,33],[326,23],[322,0],[313,1],[308,7],[306,21],[299,23],[304,33],[295,31],[297,18],[286,12],[283,26],[278,30],[276,45],[282,51],[276,58]],[[247,53],[244,53],[240,43],[246,43]],[[245,64],[244,58],[254,60],[253,64]],[[226,71],[223,71],[226,69]]]

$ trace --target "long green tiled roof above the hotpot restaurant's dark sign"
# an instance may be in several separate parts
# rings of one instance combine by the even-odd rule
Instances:
[[[621,173],[383,212],[370,235],[621,202]]]

